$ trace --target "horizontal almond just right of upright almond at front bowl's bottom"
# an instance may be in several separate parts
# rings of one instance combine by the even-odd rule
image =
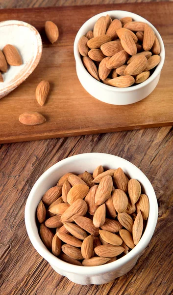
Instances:
[[[120,255],[124,251],[124,247],[108,244],[98,246],[94,249],[94,251],[98,256],[112,258]]]

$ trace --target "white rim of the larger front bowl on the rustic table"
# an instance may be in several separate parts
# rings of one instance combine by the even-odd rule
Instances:
[[[53,173],[57,169],[60,169],[60,167],[62,167],[64,163],[71,162],[71,161],[73,162],[75,158],[77,159],[77,158],[82,158],[82,157],[87,156],[90,160],[92,160],[92,158],[99,157],[99,156],[102,157],[103,155],[106,155],[106,156],[108,155],[109,157],[112,157],[113,161],[115,161],[117,158],[121,159],[124,162],[127,162],[128,165],[130,164],[130,166],[135,167],[135,169],[137,169],[138,172],[143,175],[143,177],[146,179],[146,182],[148,183],[148,185],[150,187],[149,189],[150,189],[151,195],[152,195],[152,198],[151,198],[152,201],[151,200],[149,201],[149,208],[152,207],[152,212],[149,209],[148,223],[147,223],[145,232],[144,232],[143,236],[141,237],[139,243],[124,257],[116,260],[115,262],[101,265],[101,266],[82,266],[82,267],[75,266],[75,265],[66,263],[66,262],[60,260],[59,258],[57,258],[56,256],[54,256],[52,253],[49,252],[49,250],[43,244],[41,238],[39,237],[39,240],[38,240],[36,238],[36,236],[34,236],[34,231],[32,230],[32,224],[36,225],[36,220],[35,220],[35,211],[33,212],[33,210],[31,210],[32,199],[34,198],[34,193],[35,193],[37,186],[40,185],[40,183],[42,183],[42,181],[45,179],[45,177],[47,177],[49,175],[49,173]],[[150,203],[152,203],[152,206],[150,205]],[[157,217],[158,217],[158,205],[157,205],[156,195],[155,195],[154,189],[153,189],[150,181],[145,176],[145,174],[139,168],[137,168],[134,164],[132,164],[131,162],[129,162],[121,157],[111,155],[111,154],[106,154],[106,153],[78,154],[78,155],[74,155],[72,157],[63,159],[63,160],[59,161],[58,163],[54,164],[45,173],[43,173],[41,175],[41,177],[39,177],[38,180],[35,182],[35,184],[33,185],[32,189],[29,193],[29,196],[27,198],[26,205],[25,205],[25,226],[26,226],[26,230],[27,230],[27,234],[29,236],[29,239],[30,239],[32,245],[34,246],[34,248],[36,249],[36,251],[43,258],[45,258],[49,262],[50,265],[56,266],[56,267],[60,268],[61,270],[68,271],[70,273],[78,273],[81,275],[89,275],[89,276],[109,272],[109,271],[112,271],[114,268],[119,269],[124,264],[129,262],[131,259],[133,259],[135,257],[137,257],[137,259],[138,259],[139,258],[138,256],[142,255],[142,252],[147,247],[151,237],[153,236],[153,233],[154,233],[154,230],[155,230],[155,227],[157,224]],[[38,233],[38,235],[39,235],[39,233]],[[70,266],[73,266],[72,269],[70,268]]]

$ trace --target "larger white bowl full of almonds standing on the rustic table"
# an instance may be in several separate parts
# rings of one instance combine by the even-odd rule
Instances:
[[[85,153],[50,167],[25,206],[31,243],[77,284],[105,284],[127,273],[147,247],[158,206],[148,178],[132,163]]]

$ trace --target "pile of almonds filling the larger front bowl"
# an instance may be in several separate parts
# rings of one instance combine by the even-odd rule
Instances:
[[[77,266],[115,261],[139,242],[148,219],[148,197],[121,168],[93,175],[67,173],[37,207],[40,236],[61,260]]]

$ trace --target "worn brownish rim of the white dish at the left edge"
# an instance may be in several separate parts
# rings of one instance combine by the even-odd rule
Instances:
[[[28,24],[26,22],[23,22],[23,21],[10,20],[10,21],[2,21],[2,22],[0,22],[0,27],[11,26],[11,25],[18,25],[18,26],[27,27],[35,34],[35,37],[36,37],[36,40],[37,40],[37,52],[36,52],[35,56],[33,56],[33,59],[31,61],[31,63],[29,64],[29,68],[27,69],[27,72],[23,73],[23,75],[20,76],[18,79],[14,78],[12,83],[9,82],[8,85],[5,88],[0,89],[0,94],[3,94],[6,91],[12,90],[12,89],[18,87],[22,82],[24,82],[25,79],[28,78],[29,75],[34,71],[34,69],[38,65],[38,63],[39,63],[39,61],[41,59],[41,56],[42,56],[43,45],[42,45],[42,39],[41,39],[41,36],[40,36],[38,30],[35,29],[30,24]]]

